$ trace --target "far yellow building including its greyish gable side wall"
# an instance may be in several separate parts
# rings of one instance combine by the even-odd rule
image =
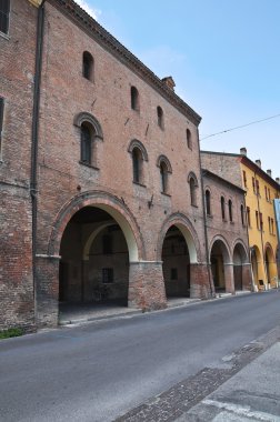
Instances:
[[[278,250],[273,199],[280,197],[280,185],[271,171],[261,169],[261,161],[251,161],[246,148],[240,154],[202,151],[203,165],[246,191],[246,215],[253,270],[258,289],[277,285]]]

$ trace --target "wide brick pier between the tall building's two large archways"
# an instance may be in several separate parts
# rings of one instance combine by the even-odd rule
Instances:
[[[162,262],[130,262],[128,304],[142,310],[167,308]]]

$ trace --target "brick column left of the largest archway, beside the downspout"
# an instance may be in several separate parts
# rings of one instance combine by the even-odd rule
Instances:
[[[60,257],[36,257],[36,320],[38,326],[57,326]]]

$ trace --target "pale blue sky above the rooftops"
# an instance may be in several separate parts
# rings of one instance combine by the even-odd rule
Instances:
[[[159,78],[172,76],[202,117],[202,150],[246,147],[280,177],[279,0],[76,1]]]

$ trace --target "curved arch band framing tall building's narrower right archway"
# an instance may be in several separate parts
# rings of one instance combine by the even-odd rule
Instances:
[[[191,224],[190,220],[188,219],[188,217],[179,212],[168,217],[160,229],[158,245],[157,245],[157,259],[159,261],[161,260],[161,250],[162,250],[163,241],[171,225],[176,225],[182,233],[189,249],[190,263],[198,263],[199,261],[201,261],[200,247],[199,247],[197,232],[193,225]]]

